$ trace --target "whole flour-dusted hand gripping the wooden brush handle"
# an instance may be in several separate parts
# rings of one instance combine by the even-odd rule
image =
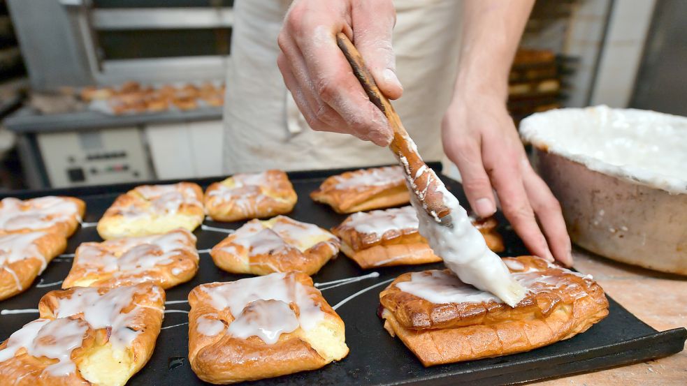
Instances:
[[[277,39],[277,59],[296,105],[317,131],[353,134],[380,146],[391,142],[384,114],[363,91],[336,44],[344,32],[363,55],[379,89],[391,99],[403,88],[396,77],[391,0],[294,0]]]

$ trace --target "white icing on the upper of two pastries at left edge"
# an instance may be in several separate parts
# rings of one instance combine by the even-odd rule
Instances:
[[[3,198],[0,203],[2,230],[38,230],[70,221],[72,218],[81,221],[78,206],[74,202],[52,195],[26,201],[8,197]]]

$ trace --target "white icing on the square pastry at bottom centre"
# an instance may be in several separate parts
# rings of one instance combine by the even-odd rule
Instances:
[[[231,311],[236,320],[231,322],[228,331],[233,336],[244,339],[248,336],[259,336],[265,343],[271,344],[283,333],[292,332],[298,327],[308,331],[324,319],[324,312],[319,308],[319,304],[310,297],[307,288],[291,274],[275,273],[240,279],[216,287],[203,285],[201,290],[208,294],[210,305],[214,309]],[[256,302],[260,300],[276,302]],[[294,308],[298,309],[298,316],[290,304],[294,304]],[[296,327],[294,318],[298,322]],[[233,327],[237,321],[240,322]],[[199,332],[203,334],[202,331]]]

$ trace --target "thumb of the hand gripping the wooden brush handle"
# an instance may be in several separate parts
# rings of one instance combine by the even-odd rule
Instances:
[[[396,76],[396,55],[391,46],[396,9],[391,0],[354,1],[352,6],[353,43],[365,59],[377,86],[389,99],[403,94]]]

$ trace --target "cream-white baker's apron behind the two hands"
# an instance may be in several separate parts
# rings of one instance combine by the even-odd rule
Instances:
[[[290,0],[237,0],[224,105],[224,172],[393,163],[388,149],[312,131],[277,68],[277,35]],[[443,158],[440,125],[458,69],[461,1],[396,0],[393,49],[403,96],[394,101],[426,161]]]

